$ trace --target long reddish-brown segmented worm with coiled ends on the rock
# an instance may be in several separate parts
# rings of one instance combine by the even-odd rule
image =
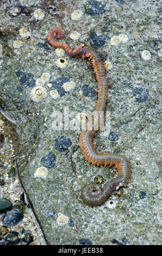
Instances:
[[[75,58],[89,58],[91,60],[92,66],[96,73],[96,78],[98,82],[98,101],[96,103],[96,112],[99,114],[104,111],[105,104],[107,102],[108,95],[108,82],[105,76],[105,69],[102,63],[101,58],[98,54],[88,48],[83,47],[83,45],[78,46],[75,50],[72,50],[65,42],[58,42],[54,39],[54,34],[57,39],[61,39],[64,37],[63,31],[60,28],[54,27],[48,32],[48,42],[54,47],[64,49],[65,53],[75,57]],[[102,125],[102,119],[99,119],[99,126]],[[114,178],[110,181],[104,182],[103,185],[96,184],[95,182],[91,182],[90,184],[86,184],[82,188],[82,198],[83,202],[87,205],[101,205],[107,200],[113,190],[117,190],[119,187],[122,187],[127,184],[129,176],[130,176],[130,164],[127,159],[120,154],[113,153],[99,153],[95,150],[94,144],[92,142],[95,133],[97,130],[98,119],[94,119],[92,117],[91,121],[89,121],[86,126],[86,130],[83,130],[80,133],[79,137],[79,145],[82,149],[85,160],[92,165],[97,164],[107,166],[115,165],[117,169],[118,177]]]

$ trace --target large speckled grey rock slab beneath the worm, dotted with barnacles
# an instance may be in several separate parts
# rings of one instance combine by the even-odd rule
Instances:
[[[36,20],[34,11],[45,13]],[[72,20],[75,10],[79,20]],[[15,141],[18,170],[46,241],[52,245],[160,245],[160,1],[8,1],[0,3],[1,92],[3,111],[16,120]],[[111,113],[111,132],[94,138],[99,152],[127,157],[131,178],[127,187],[114,191],[102,206],[85,206],[80,190],[96,175],[111,179],[116,170],[91,166],[79,148],[79,130],[54,129],[54,111],[95,110],[97,82],[88,60],[64,56],[66,68],[56,65],[59,58],[48,45],[49,29],[58,26],[72,48],[79,44],[94,47],[103,61],[113,65],[107,71],[110,83],[106,110]],[[20,35],[27,27],[30,36]],[[78,40],[68,35],[77,31]],[[113,36],[126,34],[126,43],[112,45]],[[21,40],[20,48],[14,48]],[[144,60],[142,51],[151,53]],[[51,77],[46,96],[34,101],[35,81],[44,72]],[[65,92],[63,84],[76,82]],[[51,90],[59,96],[53,99]],[[38,99],[42,91],[37,91]],[[73,117],[70,117],[72,120]],[[59,116],[59,124],[66,121]],[[45,179],[34,177],[46,167]],[[57,221],[66,216],[66,222]],[[59,219],[60,220],[60,219]]]

